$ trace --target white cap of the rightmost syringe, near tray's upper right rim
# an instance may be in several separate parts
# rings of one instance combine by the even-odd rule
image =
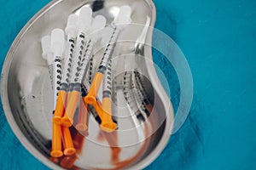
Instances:
[[[120,7],[119,14],[114,20],[115,24],[130,24],[131,23],[131,7],[124,5]]]

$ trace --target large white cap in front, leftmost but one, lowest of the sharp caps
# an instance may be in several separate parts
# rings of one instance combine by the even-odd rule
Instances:
[[[59,28],[51,31],[51,49],[55,55],[62,56],[64,51],[64,31]]]

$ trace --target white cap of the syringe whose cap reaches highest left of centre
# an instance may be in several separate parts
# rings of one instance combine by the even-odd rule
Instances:
[[[79,14],[79,31],[90,31],[92,10],[89,7],[83,7],[80,9]]]

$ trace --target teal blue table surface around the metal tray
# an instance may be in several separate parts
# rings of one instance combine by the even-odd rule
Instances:
[[[49,0],[0,1],[2,67],[16,35]],[[183,127],[146,169],[256,169],[256,1],[154,3],[155,27],[188,59],[194,99]],[[2,105],[0,122],[0,169],[47,169],[16,139]]]

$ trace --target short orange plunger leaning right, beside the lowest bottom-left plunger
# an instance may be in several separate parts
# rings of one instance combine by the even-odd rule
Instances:
[[[73,147],[73,140],[69,131],[69,127],[61,127],[62,133],[62,142],[64,145],[64,155],[72,156],[76,153],[75,148]]]

